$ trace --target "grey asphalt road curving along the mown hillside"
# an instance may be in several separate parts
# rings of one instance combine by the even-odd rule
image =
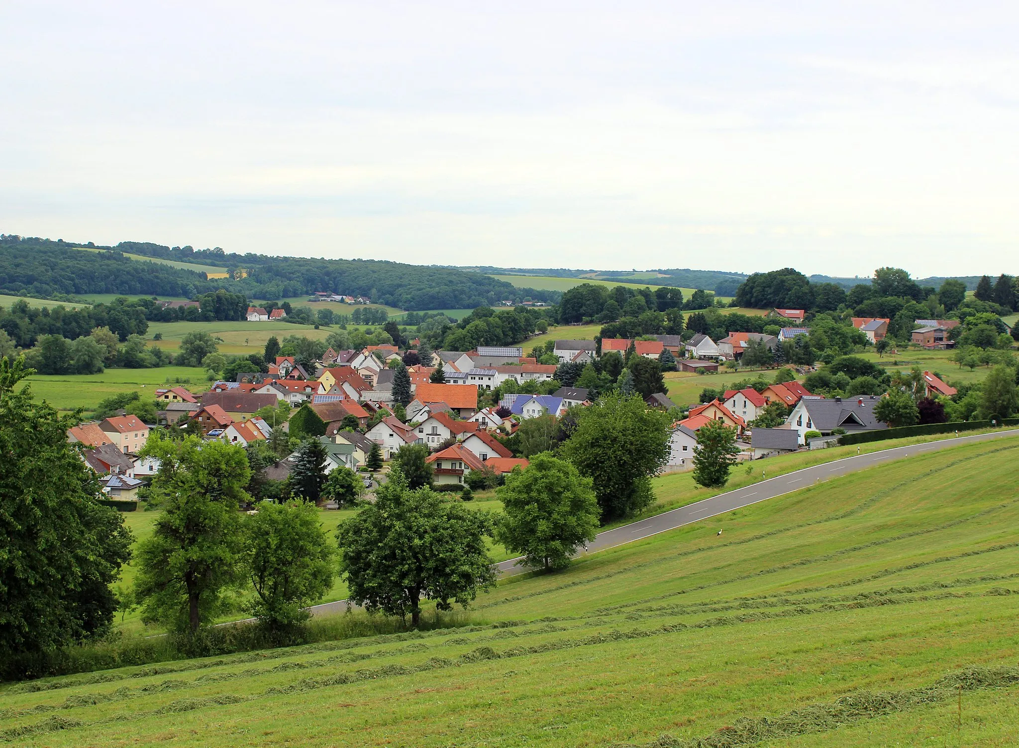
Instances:
[[[754,483],[750,486],[737,488],[734,491],[719,493],[717,496],[711,496],[710,498],[705,498],[701,501],[697,501],[696,503],[687,504],[686,506],[681,506],[680,509],[673,510],[671,512],[655,515],[654,517],[649,517],[646,520],[641,520],[640,522],[634,522],[629,525],[618,527],[613,530],[606,530],[605,532],[598,533],[594,542],[590,543],[587,548],[578,553],[578,555],[587,555],[588,553],[595,553],[599,550],[604,550],[605,548],[614,548],[620,545],[632,543],[635,540],[643,540],[644,538],[651,537],[652,535],[657,535],[660,532],[675,530],[676,528],[683,527],[684,525],[701,522],[703,520],[710,519],[711,517],[723,515],[727,512],[733,512],[743,506],[749,506],[750,504],[757,503],[758,501],[765,501],[769,498],[774,498],[775,496],[782,496],[786,493],[806,488],[818,480],[826,480],[828,478],[836,478],[840,475],[855,473],[859,470],[872,468],[876,465],[882,465],[894,460],[902,460],[913,455],[923,455],[974,441],[987,441],[989,439],[1000,439],[1005,436],[1017,435],[1019,435],[1019,429],[1008,429],[1005,431],[996,431],[986,434],[959,436],[953,439],[931,441],[926,444],[896,446],[890,449],[869,452],[867,455],[843,458],[842,460],[836,460],[832,463],[815,465],[812,468],[804,468],[803,470],[797,470],[794,473],[786,473],[785,475],[780,475],[775,478],[768,478],[767,480],[762,480],[759,483]],[[769,461],[767,460],[761,460],[759,462],[755,462],[754,466],[755,468],[759,466],[766,475],[768,462]],[[519,560],[519,558],[509,558],[508,560],[496,564],[495,567],[498,571],[498,575],[500,577],[504,577],[526,572],[527,569],[518,566]],[[339,612],[346,609],[346,601],[338,600],[336,602],[326,602],[321,605],[313,605],[310,609],[313,615]]]

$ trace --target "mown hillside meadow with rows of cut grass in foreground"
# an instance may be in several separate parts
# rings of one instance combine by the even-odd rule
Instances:
[[[516,578],[454,631],[7,685],[0,737],[1014,745],[1017,455],[1010,438],[914,457]]]

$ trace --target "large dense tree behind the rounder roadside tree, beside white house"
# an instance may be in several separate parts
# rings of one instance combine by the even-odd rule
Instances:
[[[667,413],[640,397],[606,394],[580,409],[564,458],[594,481],[602,522],[639,512],[654,499],[651,476],[668,460]]]

